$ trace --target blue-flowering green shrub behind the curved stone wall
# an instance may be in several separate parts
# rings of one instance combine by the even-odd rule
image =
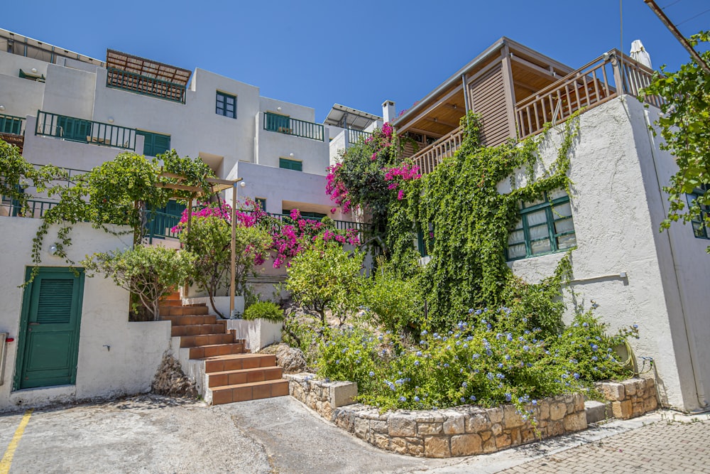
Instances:
[[[511,308],[466,316],[445,333],[422,330],[415,344],[391,331],[331,330],[320,343],[319,373],[357,382],[359,401],[382,410],[503,403],[522,409],[594,380],[628,375],[614,360],[613,347],[635,328],[608,336],[589,312],[559,337],[546,337]]]

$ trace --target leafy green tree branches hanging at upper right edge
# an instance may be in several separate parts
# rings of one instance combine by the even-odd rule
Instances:
[[[701,31],[690,37],[690,43],[709,43],[710,31]],[[710,50],[700,53],[706,63],[710,63]],[[679,171],[663,188],[668,193],[670,210],[662,228],[671,222],[689,222],[701,215],[701,207],[710,205],[710,75],[697,63],[691,61],[677,72],[655,75],[646,95],[660,95],[666,99],[661,105],[662,116],[656,124],[660,126],[665,144],[661,149],[670,151],[676,158]],[[686,194],[699,192],[699,198],[692,202],[689,212],[684,212]],[[704,225],[710,228],[710,213],[704,212]],[[708,247],[710,252],[710,247]]]

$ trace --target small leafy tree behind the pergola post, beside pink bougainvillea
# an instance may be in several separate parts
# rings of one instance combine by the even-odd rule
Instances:
[[[188,212],[187,210],[185,212]],[[231,270],[231,208],[229,205],[208,206],[192,213],[190,232],[180,232],[180,242],[197,257],[192,279],[200,291],[207,291],[214,306],[214,296],[229,284]],[[180,225],[182,227],[182,225]],[[271,237],[261,227],[236,226],[235,233],[236,294],[245,295],[246,279],[254,274],[256,259],[268,252]],[[246,295],[245,295],[246,296]],[[222,313],[214,311],[221,317]]]

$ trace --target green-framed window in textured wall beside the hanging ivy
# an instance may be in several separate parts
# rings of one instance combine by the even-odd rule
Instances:
[[[520,220],[508,235],[508,260],[560,252],[577,245],[572,207],[564,190],[545,193],[533,203],[520,203]]]

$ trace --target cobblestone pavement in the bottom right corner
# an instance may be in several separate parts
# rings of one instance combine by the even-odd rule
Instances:
[[[662,420],[499,471],[513,473],[709,473],[710,421]]]

